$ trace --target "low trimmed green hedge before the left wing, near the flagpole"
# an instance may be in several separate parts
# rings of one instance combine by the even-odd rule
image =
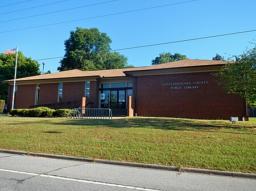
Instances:
[[[65,117],[68,109],[50,109],[47,107],[38,107],[33,109],[11,109],[11,116],[19,117]]]

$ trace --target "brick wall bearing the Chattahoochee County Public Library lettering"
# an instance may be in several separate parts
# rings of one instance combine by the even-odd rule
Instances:
[[[193,84],[205,82],[207,84]],[[162,86],[168,82],[191,82],[196,89],[180,86]],[[245,100],[234,94],[225,94],[217,78],[207,73],[151,75],[137,77],[137,115],[201,119],[229,119],[246,115]],[[171,90],[171,87],[182,87]]]

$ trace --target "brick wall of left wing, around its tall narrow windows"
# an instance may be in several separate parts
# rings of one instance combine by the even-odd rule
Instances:
[[[90,97],[86,104],[92,101],[93,104],[87,105],[87,108],[98,108],[98,86],[99,82],[90,82]],[[39,105],[35,104],[36,84],[19,85],[17,88],[16,108],[34,108],[38,106],[58,108],[77,108],[81,106],[82,97],[85,96],[85,82],[67,82],[63,83],[63,100],[57,103],[59,83],[40,84]],[[8,109],[11,108],[11,97],[13,95],[13,86],[9,86]]]

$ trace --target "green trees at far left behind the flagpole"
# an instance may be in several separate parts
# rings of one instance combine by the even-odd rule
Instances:
[[[0,54],[0,100],[7,101],[8,84],[2,83],[2,81],[14,79],[15,60],[16,54]],[[19,51],[16,78],[31,77],[39,74],[38,62],[25,57]]]

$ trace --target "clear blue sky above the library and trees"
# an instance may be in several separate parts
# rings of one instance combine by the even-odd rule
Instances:
[[[0,53],[19,45],[24,56],[38,61],[41,71],[44,62],[44,71],[55,73],[61,58],[47,58],[64,56],[64,41],[76,27],[107,33],[115,50],[255,30],[255,7],[255,0],[2,1]],[[200,60],[212,60],[218,53],[228,59],[251,48],[254,39],[256,31],[118,52],[135,67],[150,66],[163,52]]]

